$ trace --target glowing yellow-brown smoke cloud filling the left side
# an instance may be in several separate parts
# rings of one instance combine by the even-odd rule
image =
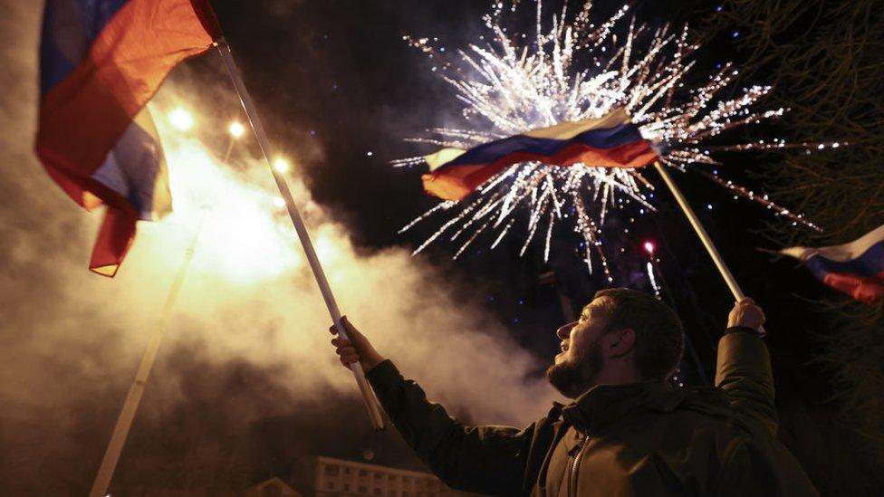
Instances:
[[[230,160],[222,160],[227,119],[241,112],[229,88],[200,88],[198,78],[181,76],[185,69],[160,91],[150,109],[167,153],[175,213],[139,224],[115,279],[88,272],[101,215],[63,196],[32,151],[41,7],[5,1],[0,19],[0,491],[89,488],[195,237],[112,488],[243,488],[304,454],[353,457],[366,447],[388,447],[380,449],[381,463],[413,464],[395,430],[370,432],[254,142],[234,143]],[[205,65],[220,68],[217,60]],[[193,131],[169,126],[165,116],[178,106],[196,115]],[[376,347],[465,420],[523,425],[542,416],[554,393],[531,372],[543,364],[476,305],[478,290],[411,258],[407,247],[353,246],[301,179],[300,165],[324,151],[304,142],[285,153],[293,195],[341,310]]]

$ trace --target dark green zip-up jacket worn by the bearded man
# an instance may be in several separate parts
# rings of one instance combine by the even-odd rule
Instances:
[[[458,490],[551,497],[817,494],[775,438],[770,358],[753,333],[721,339],[715,388],[595,387],[521,430],[462,425],[389,360],[368,378],[408,444]]]

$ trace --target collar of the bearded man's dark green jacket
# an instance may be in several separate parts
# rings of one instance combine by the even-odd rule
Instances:
[[[581,431],[594,432],[639,406],[657,404],[661,395],[665,397],[671,391],[668,383],[662,381],[599,385],[563,406],[562,417]]]

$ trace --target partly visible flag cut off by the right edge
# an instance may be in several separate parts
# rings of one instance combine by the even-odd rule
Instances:
[[[789,247],[780,251],[802,261],[814,276],[858,301],[884,298],[884,225],[850,244]]]

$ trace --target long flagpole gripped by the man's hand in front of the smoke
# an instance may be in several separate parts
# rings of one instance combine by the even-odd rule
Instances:
[[[322,298],[325,300],[325,305],[328,307],[329,313],[331,314],[331,320],[334,321],[334,326],[338,329],[338,334],[342,338],[348,339],[347,331],[341,325],[341,311],[338,310],[338,304],[334,300],[334,294],[331,293],[331,287],[325,277],[325,272],[322,271],[322,264],[320,264],[319,257],[316,256],[316,251],[313,249],[310,234],[307,232],[307,227],[304,225],[303,217],[298,211],[297,205],[294,204],[292,192],[289,191],[289,186],[285,181],[285,177],[273,167],[270,153],[270,140],[267,139],[267,134],[264,132],[264,125],[261,122],[261,118],[258,116],[255,102],[252,101],[252,97],[245,88],[245,82],[243,82],[243,78],[239,73],[239,68],[236,66],[236,62],[234,62],[233,54],[230,53],[230,45],[228,45],[226,40],[222,37],[216,41],[216,46],[218,47],[218,52],[221,53],[221,60],[224,61],[227,73],[230,75],[230,80],[234,83],[236,93],[239,94],[239,100],[243,103],[245,115],[248,117],[249,123],[252,125],[252,130],[255,131],[258,146],[261,148],[261,152],[264,153],[264,159],[267,161],[267,166],[270,167],[270,172],[274,175],[274,180],[276,181],[276,186],[279,188],[279,193],[283,196],[283,200],[285,200],[285,206],[288,209],[289,217],[292,218],[294,230],[298,233],[298,238],[301,239],[304,253],[307,256],[307,261],[310,263],[313,276],[316,278],[317,284],[319,284],[320,292],[322,292]],[[384,429],[384,419],[380,416],[378,400],[374,397],[374,392],[371,390],[369,382],[365,379],[365,372],[362,370],[361,364],[359,362],[354,362],[351,364],[351,370],[353,371],[353,376],[356,377],[356,383],[359,385],[362,400],[365,402],[365,407],[369,411],[371,425],[377,430]]]

